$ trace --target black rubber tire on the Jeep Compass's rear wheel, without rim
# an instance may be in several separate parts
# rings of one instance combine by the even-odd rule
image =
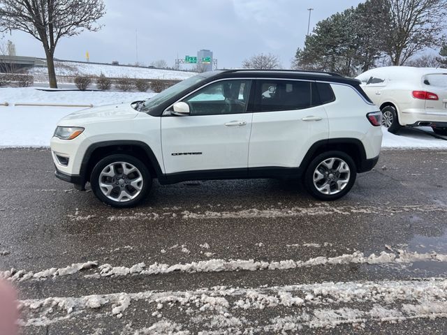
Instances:
[[[314,175],[316,176],[316,168],[319,165],[323,164],[323,162],[328,161],[328,159],[330,159],[330,158],[336,158],[335,163],[333,165],[334,169],[337,169],[339,167],[339,165],[335,165],[335,164],[341,163],[341,161],[346,163],[349,167],[349,175],[347,172],[344,172],[342,174],[339,174],[339,172],[334,172],[335,179],[330,181],[329,188],[335,187],[335,184],[337,184],[336,183],[337,173],[339,174],[339,177],[341,179],[346,178],[347,183],[344,184],[344,186],[342,186],[342,189],[339,190],[337,193],[325,194],[322,191],[318,191],[316,184],[318,185],[320,182],[323,183],[323,185],[325,185],[324,183],[328,184],[327,181],[329,180],[328,178],[330,178],[330,173],[332,173],[332,172],[330,172],[331,170],[328,169],[327,172],[329,175],[327,178],[321,179],[321,181],[316,182],[316,184],[314,183]],[[320,170],[318,170],[318,171],[320,171]],[[325,173],[326,172],[323,172],[322,174],[325,174]],[[307,192],[309,192],[309,194],[312,195],[314,198],[316,198],[318,200],[323,200],[323,201],[332,201],[332,200],[337,200],[339,198],[344,197],[344,195],[346,195],[346,193],[348,193],[351,190],[353,184],[356,182],[356,177],[357,177],[357,167],[356,167],[356,163],[354,163],[351,156],[349,156],[348,154],[345,154],[342,151],[328,151],[328,152],[325,152],[323,154],[316,156],[312,160],[312,162],[307,167],[307,170],[303,177],[303,184],[305,184],[305,188],[307,189]],[[337,191],[337,190],[335,190],[335,191]]]

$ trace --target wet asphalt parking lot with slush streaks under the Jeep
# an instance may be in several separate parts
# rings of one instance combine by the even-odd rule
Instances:
[[[337,202],[293,179],[154,182],[112,209],[48,149],[1,149],[0,271],[23,334],[445,334],[446,167],[389,150]]]

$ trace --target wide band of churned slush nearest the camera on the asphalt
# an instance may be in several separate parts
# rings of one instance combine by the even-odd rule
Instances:
[[[129,307],[132,311],[127,314]],[[447,280],[259,288],[217,286],[187,291],[48,297],[22,300],[20,308],[24,317],[19,322],[22,327],[45,327],[78,317],[126,319],[128,315],[134,317],[135,311],[144,311],[145,320],[152,325],[143,329],[124,327],[122,334],[153,334],[158,327],[176,332],[199,327],[203,335],[207,332],[237,334],[247,329],[254,333],[296,332],[303,327],[333,328],[342,324],[447,318]],[[260,318],[260,313],[270,316]]]

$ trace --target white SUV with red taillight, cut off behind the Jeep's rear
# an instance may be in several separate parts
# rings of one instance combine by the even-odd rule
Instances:
[[[357,79],[383,112],[382,124],[390,133],[402,126],[431,126],[447,135],[447,69],[386,66]]]

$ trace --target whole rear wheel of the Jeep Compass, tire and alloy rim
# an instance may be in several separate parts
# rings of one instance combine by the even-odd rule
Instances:
[[[304,184],[318,200],[337,200],[351,190],[357,169],[353,159],[342,151],[328,151],[316,156],[307,167]]]

